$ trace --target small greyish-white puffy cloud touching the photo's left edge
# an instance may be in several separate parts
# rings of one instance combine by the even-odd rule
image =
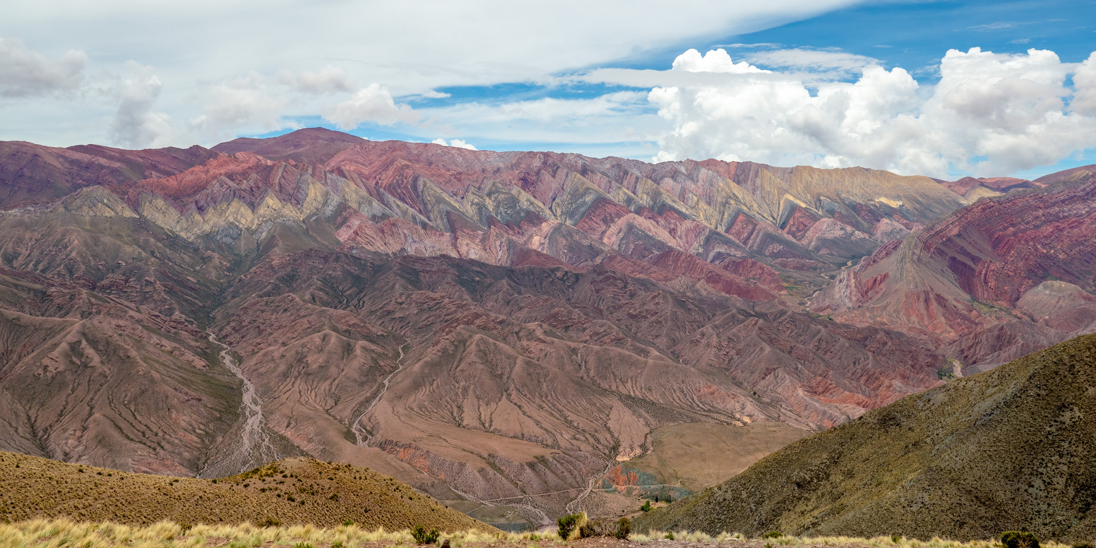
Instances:
[[[88,56],[70,49],[59,59],[27,48],[15,38],[0,38],[0,96],[41,96],[73,91],[83,81]]]

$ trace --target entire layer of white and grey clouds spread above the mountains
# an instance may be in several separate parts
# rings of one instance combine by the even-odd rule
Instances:
[[[0,139],[146,148],[324,124],[471,149],[938,178],[1012,174],[1096,148],[1096,53],[1063,62],[1046,48],[971,47],[888,69],[836,47],[686,47],[850,0],[628,5],[26,3],[0,22]]]

